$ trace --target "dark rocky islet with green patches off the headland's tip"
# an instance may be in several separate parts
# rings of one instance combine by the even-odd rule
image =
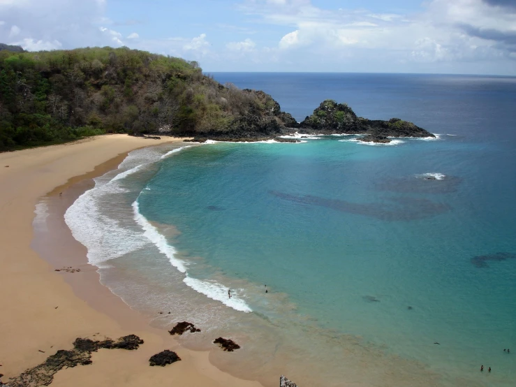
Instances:
[[[412,122],[392,118],[389,121],[357,117],[346,103],[330,99],[323,101],[314,113],[305,118],[300,133],[318,134],[371,134],[383,137],[435,137]]]

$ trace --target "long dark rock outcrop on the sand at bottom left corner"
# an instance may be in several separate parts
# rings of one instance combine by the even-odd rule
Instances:
[[[120,337],[119,339],[105,339],[102,342],[91,339],[75,339],[74,349],[65,351],[60,349],[54,355],[49,356],[44,363],[26,370],[19,377],[11,379],[10,387],[37,387],[48,386],[54,379],[54,374],[63,368],[76,365],[91,364],[91,352],[99,348],[138,349],[143,340],[135,335]]]

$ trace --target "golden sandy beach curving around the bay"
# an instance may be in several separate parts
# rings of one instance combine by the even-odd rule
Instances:
[[[140,349],[100,349],[93,353],[91,365],[57,372],[52,386],[156,386],[172,380],[177,386],[261,386],[220,371],[209,363],[208,352],[184,349],[166,331],[150,327],[143,316],[98,282],[93,268],[66,277],[54,271],[66,261],[53,264],[52,259],[45,261],[31,248],[34,207],[39,198],[52,191],[59,195],[71,184],[116,168],[133,149],[171,141],[181,140],[111,135],[0,154],[3,383],[43,363],[58,349],[72,349],[77,337],[117,339],[135,334],[145,341]],[[82,254],[85,261],[81,247],[73,251]],[[164,349],[176,351],[182,361],[149,367],[149,357]]]

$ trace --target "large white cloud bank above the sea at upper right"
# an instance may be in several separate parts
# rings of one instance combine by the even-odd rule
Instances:
[[[285,61],[297,55],[305,62],[313,57],[337,64],[343,57],[353,57],[368,64],[374,61],[381,71],[388,62],[403,66],[454,62],[459,68],[475,61],[513,58],[516,3],[505,7],[496,3],[509,2],[430,0],[421,12],[406,15],[323,9],[309,0],[247,0],[241,9],[261,22],[293,27],[279,37],[278,47],[289,49]]]

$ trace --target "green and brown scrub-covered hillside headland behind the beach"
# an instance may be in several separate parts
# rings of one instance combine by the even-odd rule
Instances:
[[[297,123],[196,62],[128,48],[0,51],[0,151],[101,133],[256,138]]]

